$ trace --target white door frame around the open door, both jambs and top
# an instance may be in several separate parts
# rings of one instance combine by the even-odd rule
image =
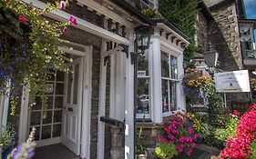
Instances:
[[[92,45],[78,45],[72,42],[68,43],[68,46],[60,46],[59,50],[66,52],[67,54],[71,55],[80,55],[82,57],[82,64],[83,64],[83,80],[82,80],[82,111],[81,111],[81,134],[80,134],[80,156],[82,158],[89,158],[90,156],[90,116],[91,116],[91,92],[92,92],[92,84],[91,84],[91,77],[92,77],[92,54],[93,54],[93,46]],[[72,45],[75,48],[80,48],[79,50],[73,49]],[[86,64],[86,65],[85,65]],[[26,142],[26,138],[29,134],[29,124],[30,120],[28,115],[28,97],[29,94],[23,93],[22,100],[22,110],[20,112],[22,117],[19,120],[19,143]],[[26,110],[26,111],[25,111]],[[23,126],[21,126],[23,125]],[[89,129],[88,129],[89,127]],[[26,129],[26,130],[25,130]]]

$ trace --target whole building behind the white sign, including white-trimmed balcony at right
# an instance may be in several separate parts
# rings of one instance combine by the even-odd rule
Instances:
[[[204,52],[213,45],[219,54],[216,72],[247,69],[252,76],[256,68],[255,20],[246,18],[243,0],[204,0],[199,5],[196,27],[196,44]],[[205,66],[204,60],[200,61],[198,65]],[[227,93],[227,104],[248,104],[251,94],[255,93]]]

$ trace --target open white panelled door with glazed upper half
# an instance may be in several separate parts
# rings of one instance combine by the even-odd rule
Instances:
[[[72,72],[65,77],[65,101],[63,107],[62,144],[73,153],[80,154],[81,106],[82,106],[82,58],[68,64]]]

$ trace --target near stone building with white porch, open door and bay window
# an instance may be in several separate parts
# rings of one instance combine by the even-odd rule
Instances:
[[[54,2],[23,1],[38,8]],[[154,25],[154,31],[148,50],[138,59],[136,121],[148,121],[148,133],[156,136],[151,130],[163,117],[186,109],[181,79],[183,51],[189,41],[168,21],[149,20],[138,9],[157,5],[158,0],[72,0],[65,11],[46,15],[57,21],[66,21],[70,15],[77,18],[77,25],[62,36],[68,43],[60,46],[73,59],[67,64],[73,74],[52,70],[55,76],[46,83],[46,116],[40,98],[30,107],[29,93],[24,92],[17,114],[9,119],[18,126],[18,142],[26,141],[35,126],[37,147],[64,144],[67,151],[87,159],[134,158],[130,53],[136,51],[134,29],[141,24]],[[8,98],[2,97],[0,104],[6,110]],[[3,111],[4,118],[6,114]]]

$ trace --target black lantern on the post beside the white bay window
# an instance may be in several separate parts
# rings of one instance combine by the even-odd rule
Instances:
[[[146,24],[138,25],[134,31],[136,34],[135,46],[138,50],[143,52],[149,47],[152,26]],[[136,50],[136,52],[138,52],[138,50]]]

